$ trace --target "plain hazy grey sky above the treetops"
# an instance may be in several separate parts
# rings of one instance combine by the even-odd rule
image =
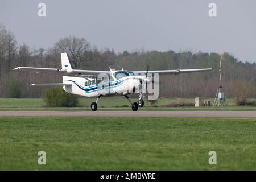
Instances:
[[[38,16],[38,3],[47,16]],[[217,17],[208,16],[210,2]],[[229,52],[256,62],[256,1],[1,0],[0,23],[19,43],[48,48],[75,35],[98,48]]]

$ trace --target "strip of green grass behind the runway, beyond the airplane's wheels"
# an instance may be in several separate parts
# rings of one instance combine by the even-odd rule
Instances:
[[[132,99],[134,102],[137,99]],[[139,110],[251,110],[256,111],[256,107],[253,106],[235,106],[234,99],[227,99],[228,106],[225,107],[170,107],[168,105],[174,103],[181,103],[182,100],[185,103],[193,103],[193,99],[181,99],[181,98],[159,98],[154,107],[151,107],[150,103],[145,101],[145,107],[139,108]],[[209,99],[213,103],[213,99]],[[253,101],[250,99],[249,101]],[[69,110],[69,111],[90,111],[90,104],[95,101],[94,98],[80,98],[79,106],[73,108],[60,107],[49,108],[43,107],[44,101],[42,98],[0,98],[0,111],[1,110]],[[98,102],[98,110],[131,110],[130,103],[123,97],[102,97]]]

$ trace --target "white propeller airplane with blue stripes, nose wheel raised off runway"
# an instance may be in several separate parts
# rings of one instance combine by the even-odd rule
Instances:
[[[129,94],[134,93],[135,90],[141,90],[142,82],[144,86],[154,80],[148,77],[148,74],[156,75],[177,75],[180,73],[203,72],[210,71],[212,68],[205,69],[174,69],[174,70],[156,70],[156,71],[128,71],[128,70],[113,70],[110,71],[95,71],[95,70],[82,70],[73,69],[68,60],[67,53],[61,53],[62,68],[36,68],[36,67],[17,67],[13,70],[18,71],[32,71],[43,73],[59,73],[63,76],[62,83],[51,84],[31,84],[30,86],[63,86],[65,92],[77,94],[85,97],[97,98],[92,102],[92,111],[97,110],[97,102],[101,96],[125,96],[131,104],[131,109],[137,111],[138,107],[144,106],[142,99],[143,94],[140,91],[139,100],[131,102],[128,97]],[[97,78],[96,78],[97,76]],[[99,77],[101,76],[101,77]],[[109,90],[112,92],[109,92]]]

